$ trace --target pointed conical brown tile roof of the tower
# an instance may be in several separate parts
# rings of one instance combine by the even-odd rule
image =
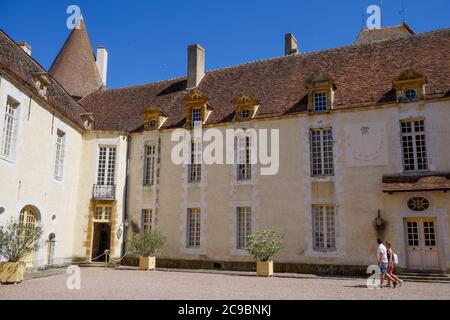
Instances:
[[[49,73],[73,97],[85,97],[102,87],[83,18],[72,29]]]

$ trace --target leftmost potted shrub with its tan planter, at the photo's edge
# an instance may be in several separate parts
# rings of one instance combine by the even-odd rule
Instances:
[[[0,227],[0,282],[19,283],[23,281],[25,259],[39,249],[42,236],[41,226],[24,226],[12,221]]]

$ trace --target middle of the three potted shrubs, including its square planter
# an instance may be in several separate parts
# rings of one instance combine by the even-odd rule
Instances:
[[[130,243],[130,250],[139,255],[140,270],[155,270],[155,256],[165,242],[166,237],[159,231],[149,231],[134,236]]]

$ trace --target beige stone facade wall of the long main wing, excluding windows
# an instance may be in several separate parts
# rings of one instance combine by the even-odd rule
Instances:
[[[235,249],[234,239],[236,207],[251,206],[254,230],[274,228],[285,233],[284,248],[275,261],[369,265],[374,262],[376,253],[374,219],[381,210],[388,223],[386,238],[394,241],[404,261],[403,229],[396,212],[408,195],[383,194],[382,177],[403,172],[399,121],[418,117],[425,118],[430,169],[450,171],[446,141],[450,136],[448,107],[448,102],[412,103],[243,124],[280,130],[278,174],[256,175],[253,183],[247,185],[235,182],[232,165],[203,166],[202,182],[187,184],[186,167],[174,165],[170,158],[170,130],[133,134],[130,219],[140,226],[141,209],[157,208],[154,226],[168,236],[164,258],[250,261],[250,257]],[[233,126],[217,128],[223,131]],[[374,134],[359,137],[365,126]],[[332,127],[334,137],[335,175],[323,179],[312,178],[310,174],[309,129],[320,127]],[[157,135],[161,136],[159,184],[143,188],[143,146],[146,142],[157,141]],[[435,199],[437,210],[442,212],[440,246],[445,269],[450,267],[449,196],[435,192],[430,196]],[[313,250],[311,206],[320,203],[337,206],[337,250],[334,252]],[[185,248],[189,207],[202,209],[199,250]],[[411,212],[405,214],[412,215]]]

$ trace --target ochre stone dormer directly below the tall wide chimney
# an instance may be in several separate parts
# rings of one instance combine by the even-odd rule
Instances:
[[[194,128],[203,125],[212,112],[212,106],[208,97],[200,90],[194,89],[184,97],[186,110],[186,128]]]

